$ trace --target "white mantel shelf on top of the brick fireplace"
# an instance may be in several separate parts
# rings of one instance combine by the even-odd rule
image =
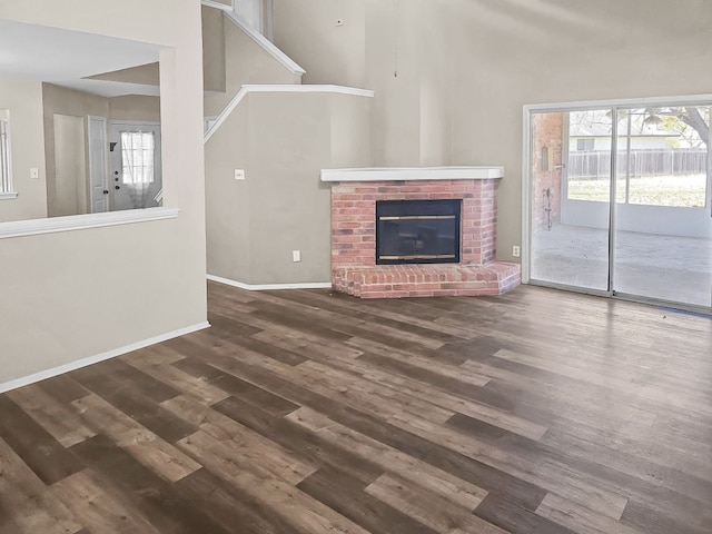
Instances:
[[[504,167],[372,167],[322,170],[322,181],[490,180],[503,176]]]

